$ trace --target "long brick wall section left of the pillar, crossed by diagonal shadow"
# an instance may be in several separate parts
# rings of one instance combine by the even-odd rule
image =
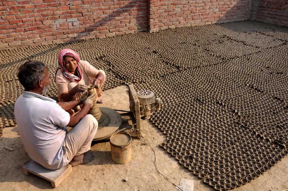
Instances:
[[[0,48],[146,31],[148,0],[0,0]]]

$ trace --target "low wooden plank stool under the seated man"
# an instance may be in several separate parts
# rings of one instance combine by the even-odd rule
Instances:
[[[61,182],[67,178],[68,175],[72,172],[72,166],[67,164],[61,169],[50,170],[41,166],[39,163],[36,163],[34,160],[31,160],[25,166],[23,166],[24,174],[29,175],[30,173],[35,174],[41,178],[44,178],[47,181],[51,182],[52,187],[56,188]]]

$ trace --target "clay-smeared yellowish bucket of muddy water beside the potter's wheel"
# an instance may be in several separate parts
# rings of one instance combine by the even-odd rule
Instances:
[[[111,157],[115,163],[124,164],[131,160],[132,138],[129,134],[119,132],[110,137]]]

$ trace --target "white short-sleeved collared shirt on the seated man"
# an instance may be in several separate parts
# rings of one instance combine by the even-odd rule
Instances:
[[[32,160],[47,169],[59,169],[69,163],[63,143],[70,115],[55,100],[23,91],[15,102],[14,115]]]

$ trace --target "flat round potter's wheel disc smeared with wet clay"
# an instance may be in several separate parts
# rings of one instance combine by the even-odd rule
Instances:
[[[98,130],[94,137],[94,141],[101,140],[105,137],[109,137],[112,133],[117,131],[122,124],[121,115],[108,107],[99,107],[104,121],[98,124]]]

